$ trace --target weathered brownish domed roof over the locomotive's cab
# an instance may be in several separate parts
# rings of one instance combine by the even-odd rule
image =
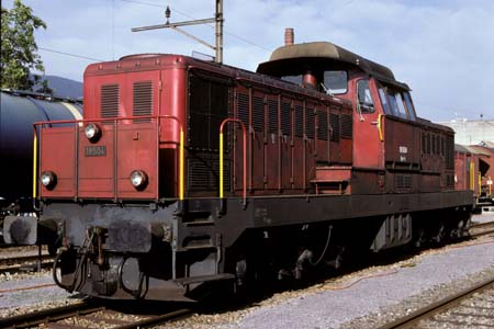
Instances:
[[[385,66],[366,59],[329,42],[314,42],[285,45],[276,49],[268,61],[261,63],[257,71],[279,76],[296,64],[304,67],[327,65],[327,61],[349,64],[375,77],[378,80],[409,90],[408,86],[396,81],[393,72]],[[294,65],[295,64],[295,65]]]

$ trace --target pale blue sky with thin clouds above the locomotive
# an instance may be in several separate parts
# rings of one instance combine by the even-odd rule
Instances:
[[[1,0],[12,8],[13,0]],[[172,30],[132,27],[214,16],[214,0],[24,0],[43,19],[36,32],[45,73],[82,81],[86,66],[130,54],[210,48]],[[419,116],[436,122],[494,120],[492,0],[224,0],[224,63],[256,70],[282,46],[328,41],[392,69]],[[184,27],[214,43],[213,26]],[[69,53],[72,57],[56,52]]]

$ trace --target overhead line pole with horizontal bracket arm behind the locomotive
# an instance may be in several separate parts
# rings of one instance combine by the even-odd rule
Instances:
[[[142,31],[158,30],[158,29],[172,29],[172,30],[197,41],[198,43],[215,50],[214,61],[223,63],[223,21],[224,21],[223,20],[223,0],[215,0],[215,1],[216,1],[216,13],[215,13],[214,18],[170,23],[169,20],[170,20],[170,15],[171,15],[171,10],[169,7],[167,7],[167,10],[165,11],[165,16],[167,19],[167,22],[165,24],[134,27],[134,29],[132,29],[132,32],[142,32]],[[180,29],[181,26],[211,24],[211,23],[215,23],[215,26],[214,26],[214,34],[215,34],[215,41],[216,41],[215,46],[190,34],[189,32]]]

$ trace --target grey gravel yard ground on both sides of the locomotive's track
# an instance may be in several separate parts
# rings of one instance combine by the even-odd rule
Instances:
[[[473,220],[494,222],[494,212],[475,215]],[[0,249],[0,259],[5,257],[5,250]],[[494,234],[398,260],[379,261],[239,307],[195,311],[162,328],[380,328],[491,276],[494,276]],[[457,321],[459,327],[451,327],[448,321],[429,321],[424,328],[492,328],[494,320],[489,315],[494,315],[494,295],[492,292],[486,295],[483,300],[491,306],[479,306],[484,302],[470,302],[474,306],[470,309],[486,313],[486,317],[480,315],[481,320]],[[68,294],[55,286],[49,269],[0,273],[0,319],[81,300],[81,295]],[[99,325],[98,328],[105,327]]]

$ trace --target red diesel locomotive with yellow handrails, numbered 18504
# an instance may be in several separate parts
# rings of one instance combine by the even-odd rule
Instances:
[[[287,44],[258,72],[180,55],[90,65],[85,120],[38,123],[55,281],[104,298],[195,298],[212,282],[304,277],[346,252],[463,236],[453,132],[419,118],[390,69]]]

